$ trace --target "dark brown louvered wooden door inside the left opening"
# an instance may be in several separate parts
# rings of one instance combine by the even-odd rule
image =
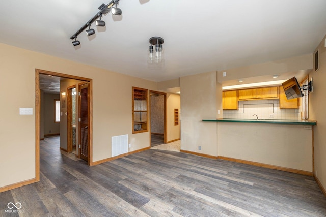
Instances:
[[[88,161],[89,156],[89,94],[88,84],[80,86],[80,158]]]

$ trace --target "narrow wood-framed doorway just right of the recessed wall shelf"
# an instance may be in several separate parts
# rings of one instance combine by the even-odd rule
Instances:
[[[167,143],[167,94],[150,90],[150,146]]]

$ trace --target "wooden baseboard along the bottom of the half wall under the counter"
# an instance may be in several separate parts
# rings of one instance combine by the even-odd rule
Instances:
[[[312,172],[304,171],[304,170],[291,169],[291,168],[287,168],[287,167],[280,167],[280,166],[275,166],[275,165],[270,165],[270,164],[263,164],[263,163],[246,161],[246,160],[241,160],[241,159],[236,159],[236,158],[223,157],[223,156],[218,156],[218,159],[242,163],[242,164],[249,164],[249,165],[253,165],[253,166],[264,167],[264,168],[269,168],[269,169],[274,169],[274,170],[281,170],[281,171],[296,173],[296,174],[300,174],[300,175],[313,176]]]

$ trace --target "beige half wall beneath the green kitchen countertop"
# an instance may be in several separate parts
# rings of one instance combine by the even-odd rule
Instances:
[[[312,172],[312,130],[305,127],[218,122],[219,156]]]

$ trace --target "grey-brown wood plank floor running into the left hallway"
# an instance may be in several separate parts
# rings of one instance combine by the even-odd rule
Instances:
[[[312,177],[149,149],[88,167],[41,141],[41,181],[0,193],[20,216],[326,216]],[[2,174],[3,175],[3,174]]]

